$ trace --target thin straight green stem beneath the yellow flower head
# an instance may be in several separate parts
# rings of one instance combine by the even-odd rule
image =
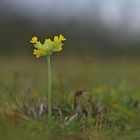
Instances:
[[[50,56],[47,57],[48,63],[48,117],[51,118],[51,62]]]

